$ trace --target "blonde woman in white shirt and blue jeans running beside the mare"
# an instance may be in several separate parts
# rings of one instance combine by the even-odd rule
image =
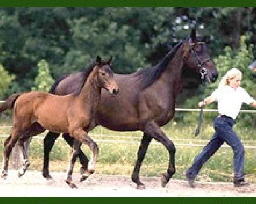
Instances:
[[[212,95],[198,103],[199,107],[203,107],[217,101],[219,114],[214,120],[215,134],[201,153],[195,157],[192,166],[185,173],[190,187],[195,187],[194,179],[202,165],[224,142],[230,145],[234,151],[234,185],[236,187],[249,185],[244,180],[244,147],[232,127],[242,103],[256,108],[256,101],[240,87],[241,79],[242,73],[240,70],[236,68],[230,69],[222,77],[219,87]]]

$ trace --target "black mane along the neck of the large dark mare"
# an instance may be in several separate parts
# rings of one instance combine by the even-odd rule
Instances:
[[[182,44],[183,42],[180,42],[174,48],[172,48],[172,50],[170,50],[169,53],[166,54],[166,56],[163,57],[163,59],[157,65],[150,68],[141,69],[135,73],[135,75],[140,78],[140,85],[142,85],[142,88],[148,87],[160,77],[160,75],[166,69],[169,61],[175,56],[175,53]]]

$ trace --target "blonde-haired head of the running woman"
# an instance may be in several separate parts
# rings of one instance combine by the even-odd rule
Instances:
[[[227,71],[227,74],[222,77],[219,87],[229,85],[231,88],[238,88],[241,84],[242,76],[243,74],[239,69],[230,69]]]

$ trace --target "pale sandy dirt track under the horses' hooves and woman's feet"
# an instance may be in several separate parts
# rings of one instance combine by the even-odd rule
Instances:
[[[18,178],[17,171],[9,171],[6,180],[0,179],[0,196],[21,197],[256,197],[256,185],[234,187],[233,183],[197,182],[195,189],[186,181],[173,180],[160,186],[160,178],[142,178],[146,189],[137,190],[128,176],[94,174],[87,181],[79,182],[79,174],[73,174],[77,189],[70,189],[64,182],[66,173],[52,173],[47,181],[41,172],[28,171]]]

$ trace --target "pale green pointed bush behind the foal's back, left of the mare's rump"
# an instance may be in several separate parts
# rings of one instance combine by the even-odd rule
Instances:
[[[49,65],[46,60],[42,59],[37,64],[38,75],[35,77],[35,87],[32,90],[49,91],[54,79],[49,71]]]

